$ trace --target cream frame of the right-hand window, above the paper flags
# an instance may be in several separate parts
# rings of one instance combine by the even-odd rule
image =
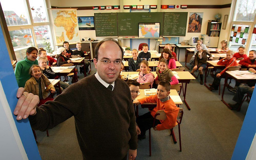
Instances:
[[[246,54],[249,55],[249,48],[252,44],[251,40],[252,40],[253,28],[256,25],[256,15],[254,16],[253,21],[235,21],[234,14],[236,13],[237,0],[233,0],[233,2],[234,3],[231,4],[231,8],[230,8],[231,22],[230,22],[230,26],[229,26],[229,34],[228,35],[229,35],[229,37],[231,36],[231,28],[233,25],[249,25],[250,28],[249,28],[249,32],[248,32],[248,39],[246,40],[246,45],[245,45]],[[228,44],[230,42],[229,37],[228,37]]]

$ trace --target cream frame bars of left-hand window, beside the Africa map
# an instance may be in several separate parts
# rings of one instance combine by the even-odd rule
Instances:
[[[47,15],[48,22],[36,22],[36,23],[33,21],[32,13],[31,13],[30,5],[29,5],[29,0],[23,0],[23,1],[25,3],[25,6],[26,6],[26,9],[27,9],[27,12],[28,12],[28,17],[29,17],[29,20],[30,20],[30,24],[29,25],[7,26],[8,31],[30,29],[31,30],[32,41],[34,42],[35,47],[38,48],[34,27],[36,27],[36,26],[46,26],[47,25],[47,26],[49,26],[50,43],[52,45],[51,47],[54,48],[53,32],[52,32],[52,28],[51,28],[51,21],[50,21],[50,16],[49,16],[49,11],[48,11],[47,0],[45,0],[44,3],[45,3],[45,7],[46,7],[46,15]]]

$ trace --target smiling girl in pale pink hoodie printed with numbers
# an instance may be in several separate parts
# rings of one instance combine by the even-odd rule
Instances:
[[[151,88],[152,88],[155,76],[154,76],[153,73],[148,71],[148,68],[149,68],[148,67],[148,61],[146,61],[146,60],[141,61],[141,63],[140,63],[140,70],[141,71],[139,73],[139,77],[137,79],[137,82],[139,82],[140,84],[150,82]]]

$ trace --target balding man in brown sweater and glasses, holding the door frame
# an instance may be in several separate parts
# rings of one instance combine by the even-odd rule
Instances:
[[[129,148],[129,159],[134,160],[137,134],[131,93],[126,82],[117,78],[122,59],[118,42],[105,38],[95,47],[97,72],[70,85],[54,101],[34,107],[38,97],[20,88],[14,111],[17,120],[30,115],[31,127],[45,131],[74,116],[83,159],[123,160]],[[24,101],[30,101],[29,106]]]

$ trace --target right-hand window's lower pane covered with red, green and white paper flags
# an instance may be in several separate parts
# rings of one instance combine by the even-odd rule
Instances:
[[[238,47],[244,47],[247,43],[249,30],[249,25],[234,24],[231,28],[229,49],[237,51]]]

